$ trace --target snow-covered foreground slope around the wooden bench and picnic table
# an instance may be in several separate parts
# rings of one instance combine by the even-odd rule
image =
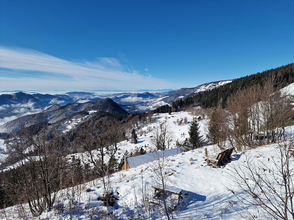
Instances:
[[[208,152],[214,153],[216,146],[208,146]],[[255,156],[256,160],[270,165],[273,160],[277,159],[275,155],[275,145],[268,145],[246,152],[248,155]],[[224,168],[212,168],[206,166],[204,161],[204,149],[191,150],[186,153],[178,154],[167,158],[168,166],[168,182],[167,185],[175,186],[188,191],[188,197],[182,204],[181,208],[175,211],[175,219],[239,219],[238,213],[235,211],[238,201],[233,192],[238,192],[236,187],[230,180],[232,178],[231,168],[242,163],[245,160],[244,152],[233,155],[238,160],[233,160]],[[191,159],[192,158],[192,159]],[[143,182],[147,182],[150,188],[153,185],[153,168],[150,164],[144,164],[140,167],[117,172],[111,176],[113,194],[117,195],[118,201],[114,207],[108,207],[108,212],[113,211],[117,219],[131,219],[130,216],[137,216],[138,209],[136,198],[142,198],[142,178]],[[97,216],[91,216],[91,210],[101,206],[101,202],[97,200],[103,195],[102,180],[82,185],[81,202],[78,207],[81,211],[79,214],[73,214],[72,219],[100,219]],[[90,192],[86,189],[90,188]],[[60,193],[57,200],[60,200],[68,207],[68,199],[64,194]],[[152,192],[150,192],[152,194]],[[90,207],[88,209],[88,207]],[[102,208],[101,208],[102,209]],[[105,208],[106,209],[106,208]],[[139,207],[140,213],[142,210]],[[6,214],[9,219],[18,219],[17,211],[14,207],[7,208]],[[166,216],[151,211],[152,219],[167,219]],[[0,218],[5,219],[5,218]],[[54,211],[44,212],[41,219],[70,219],[68,211],[64,213],[54,214]],[[135,219],[135,218],[133,218]],[[146,218],[148,219],[148,218]]]

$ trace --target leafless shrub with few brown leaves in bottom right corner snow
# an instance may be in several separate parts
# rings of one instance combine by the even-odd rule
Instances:
[[[256,219],[256,213],[259,219],[294,219],[292,143],[289,139],[277,144],[278,159],[272,158],[273,167],[248,156],[233,166],[232,180],[240,191],[232,192],[247,213],[246,219]]]

